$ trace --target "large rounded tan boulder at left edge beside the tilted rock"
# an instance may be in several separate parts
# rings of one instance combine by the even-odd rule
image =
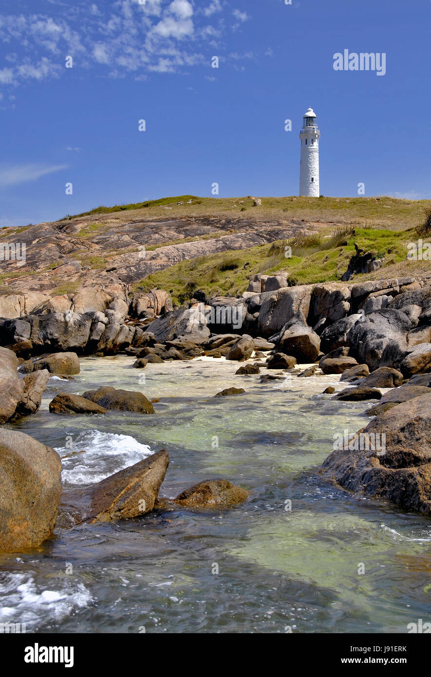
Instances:
[[[0,550],[19,552],[51,535],[61,472],[53,449],[24,433],[0,430]]]

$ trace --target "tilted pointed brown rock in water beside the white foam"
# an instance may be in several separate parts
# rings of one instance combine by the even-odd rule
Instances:
[[[168,452],[162,449],[98,482],[83,498],[87,503],[84,521],[131,519],[153,510],[168,464]]]

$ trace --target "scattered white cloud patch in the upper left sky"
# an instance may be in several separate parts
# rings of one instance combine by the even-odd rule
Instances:
[[[115,0],[85,4],[50,0],[45,14],[0,14],[0,40],[6,48],[0,88],[66,74],[73,68],[105,69],[108,77],[150,72],[185,72],[208,63],[202,53],[229,30],[229,17],[240,26],[246,12],[225,0]],[[225,15],[225,16],[223,16]],[[232,26],[233,27],[233,26]]]

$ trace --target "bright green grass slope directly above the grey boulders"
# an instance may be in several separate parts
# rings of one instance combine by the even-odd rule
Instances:
[[[133,290],[165,289],[175,303],[181,304],[189,301],[196,290],[203,290],[209,297],[240,296],[246,290],[250,276],[256,273],[283,272],[290,284],[336,282],[340,281],[348,261],[355,254],[355,242],[376,257],[384,258],[384,265],[391,265],[405,261],[412,230],[401,234],[386,229],[337,228],[326,237],[313,234],[202,256],[151,274],[137,282]],[[289,259],[285,257],[286,244],[292,247],[292,258]],[[355,281],[361,277],[356,276]]]

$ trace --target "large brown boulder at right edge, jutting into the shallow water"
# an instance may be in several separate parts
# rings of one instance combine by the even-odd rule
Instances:
[[[368,440],[378,435],[380,445],[365,449],[364,443],[361,450],[358,437],[356,450],[353,444],[352,449],[332,452],[322,466],[325,477],[365,496],[431,515],[431,397],[398,404],[360,432]],[[385,447],[378,450],[382,435]]]

